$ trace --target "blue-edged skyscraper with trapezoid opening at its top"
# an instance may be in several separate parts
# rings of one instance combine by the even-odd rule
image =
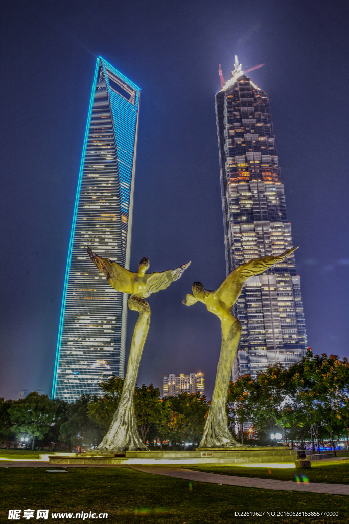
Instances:
[[[128,268],[140,89],[98,58],[66,267],[52,398],[98,394],[123,376],[127,295],[115,291],[86,248]]]

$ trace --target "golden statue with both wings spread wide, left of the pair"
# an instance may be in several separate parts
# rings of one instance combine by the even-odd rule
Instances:
[[[89,247],[87,247],[87,254],[97,269],[105,274],[111,287],[122,293],[131,294],[128,307],[139,312],[139,318],[132,336],[120,401],[108,433],[99,444],[98,450],[108,453],[147,450],[147,446],[140,438],[136,413],[134,412],[134,388],[136,387],[139,364],[150,326],[150,306],[144,298],[166,289],[172,282],[181,278],[190,262],[173,270],[145,274],[145,271],[149,268],[148,258],[142,258],[136,273],[108,258],[99,257]]]

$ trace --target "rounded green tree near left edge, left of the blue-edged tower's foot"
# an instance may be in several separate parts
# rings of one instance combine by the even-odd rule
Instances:
[[[8,409],[12,431],[17,436],[27,433],[32,439],[32,450],[36,438],[43,439],[52,434],[56,412],[57,403],[36,391],[29,393],[24,399],[13,401]]]

